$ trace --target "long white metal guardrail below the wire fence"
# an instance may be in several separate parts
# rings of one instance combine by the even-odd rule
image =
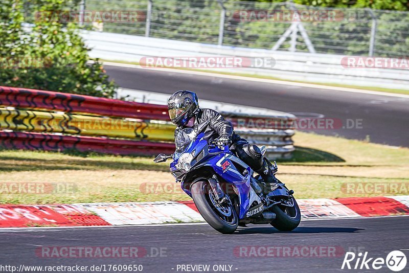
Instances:
[[[84,32],[82,36],[92,49],[89,55],[105,60],[140,62],[146,57],[238,56],[254,62],[256,58],[266,57],[274,59],[274,65],[203,69],[307,82],[409,89],[409,69],[348,68],[343,65],[345,56],[336,54],[248,49],[105,32]]]

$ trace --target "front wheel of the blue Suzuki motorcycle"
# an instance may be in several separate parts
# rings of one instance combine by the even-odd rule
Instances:
[[[197,210],[213,229],[223,234],[236,231],[239,219],[234,207],[216,200],[209,181],[197,181],[192,185],[191,193]]]

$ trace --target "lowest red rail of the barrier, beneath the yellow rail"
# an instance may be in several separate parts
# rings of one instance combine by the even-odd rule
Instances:
[[[0,147],[45,151],[93,151],[120,155],[156,155],[161,152],[171,154],[175,151],[173,143],[4,131],[0,131]]]

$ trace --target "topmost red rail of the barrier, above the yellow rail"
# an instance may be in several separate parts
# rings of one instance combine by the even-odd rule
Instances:
[[[166,105],[121,101],[28,88],[0,86],[0,105],[63,111],[66,113],[91,113],[105,117],[170,121]],[[238,128],[294,128],[294,119],[288,117],[249,116],[244,113],[231,112],[222,112],[222,115]]]

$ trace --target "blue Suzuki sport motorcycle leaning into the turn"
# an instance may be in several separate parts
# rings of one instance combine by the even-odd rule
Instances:
[[[154,163],[172,157],[170,171],[181,189],[192,197],[201,216],[218,232],[230,234],[238,225],[271,224],[279,231],[292,231],[301,220],[300,208],[284,183],[263,194],[265,183],[260,175],[240,160],[229,146],[218,146],[204,139],[202,132],[209,122],[197,130],[185,128],[175,139],[172,155],[159,154]],[[261,147],[264,155],[265,146]],[[274,173],[277,172],[275,162]]]

